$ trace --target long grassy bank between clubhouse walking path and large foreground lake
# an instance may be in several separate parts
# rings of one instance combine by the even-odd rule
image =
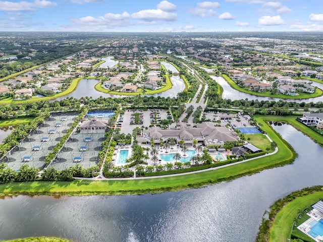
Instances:
[[[295,117],[294,117],[295,118]],[[33,181],[24,183],[10,183],[0,185],[0,195],[121,195],[161,193],[178,191],[187,188],[198,188],[204,185],[216,184],[221,181],[232,180],[244,175],[250,175],[261,170],[292,163],[297,157],[289,143],[267,123],[272,116],[256,115],[255,119],[261,129],[276,142],[278,152],[272,156],[261,157],[233,166],[218,167],[216,170],[185,174],[179,176],[157,177],[147,179],[125,180],[74,180],[65,181]],[[286,120],[286,119],[285,119]],[[277,122],[284,122],[284,118]],[[293,122],[289,122],[294,126]],[[307,127],[299,128],[303,133],[310,130]],[[320,140],[317,143],[322,143]]]

